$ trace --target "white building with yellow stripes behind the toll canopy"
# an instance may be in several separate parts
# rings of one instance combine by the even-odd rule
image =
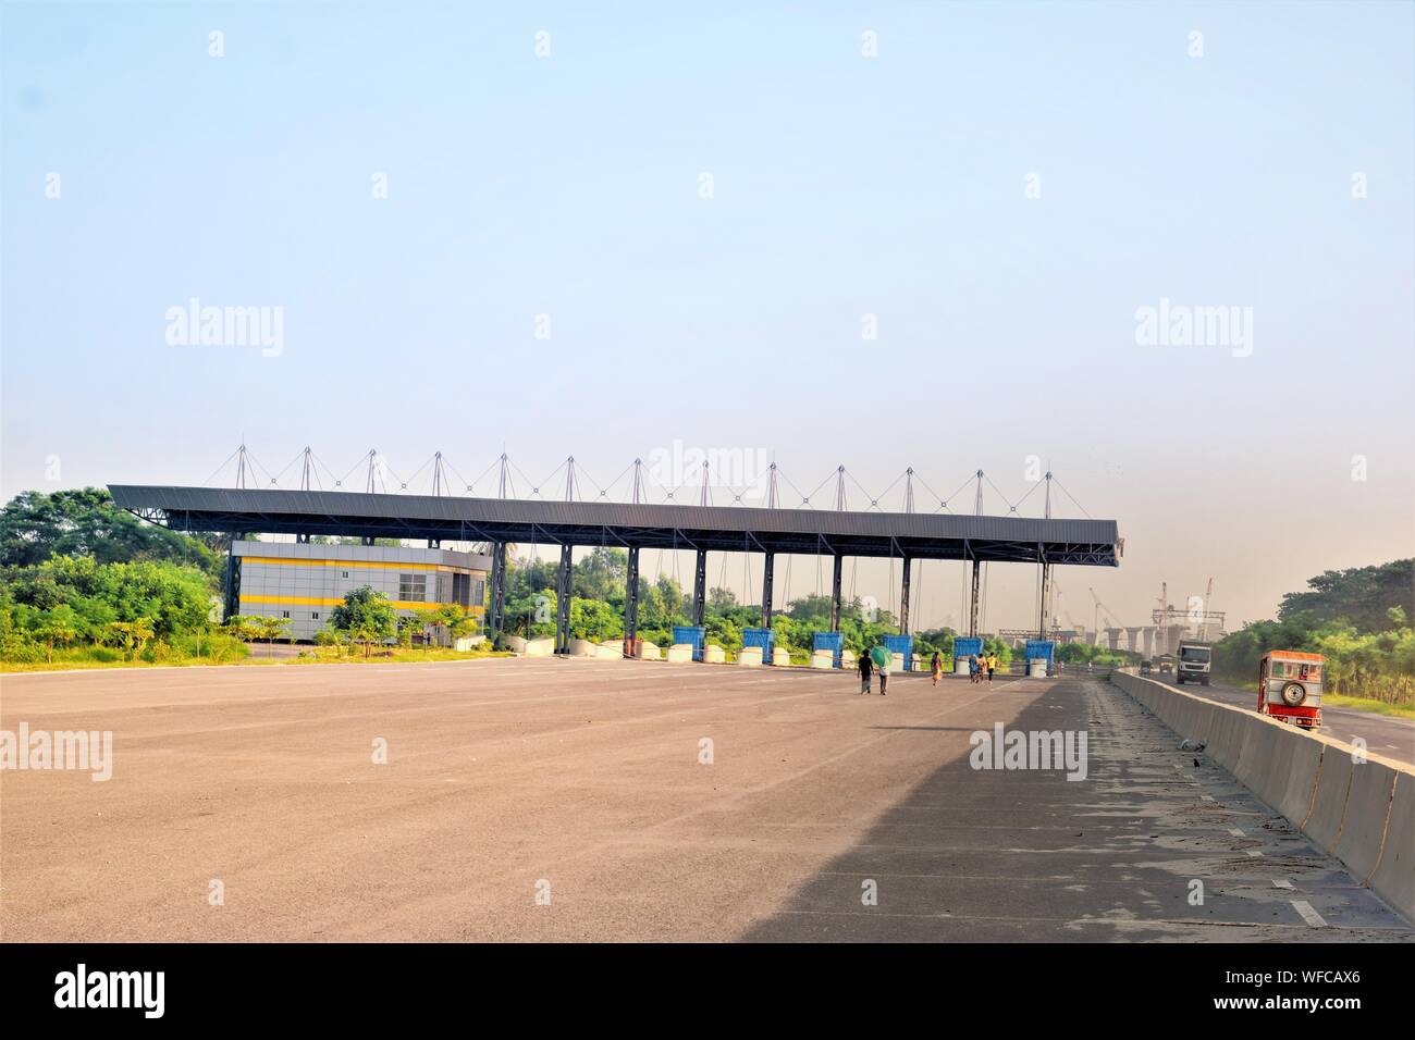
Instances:
[[[491,557],[450,549],[307,542],[235,542],[231,604],[236,613],[290,620],[293,640],[313,640],[344,596],[383,593],[399,616],[456,603],[484,613]],[[432,632],[446,642],[446,632]]]

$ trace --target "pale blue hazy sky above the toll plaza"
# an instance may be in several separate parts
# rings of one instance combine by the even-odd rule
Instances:
[[[242,433],[1013,501],[1037,454],[1126,536],[1060,576],[1087,623],[1411,552],[1409,3],[669,7],[3,3],[3,494],[197,484]],[[283,307],[280,355],[168,345],[190,297]],[[1252,355],[1136,345],[1162,297],[1251,307]]]

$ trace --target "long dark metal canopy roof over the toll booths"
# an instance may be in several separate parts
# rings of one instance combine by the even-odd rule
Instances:
[[[1115,521],[112,484],[174,531],[1119,566]]]

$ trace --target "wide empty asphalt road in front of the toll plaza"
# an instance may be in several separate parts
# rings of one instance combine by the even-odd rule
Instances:
[[[497,659],[0,683],[7,730],[113,733],[106,782],[0,774],[4,941],[1415,940],[1098,681],[862,698],[809,669]],[[972,768],[995,723],[1084,732],[1085,778]]]

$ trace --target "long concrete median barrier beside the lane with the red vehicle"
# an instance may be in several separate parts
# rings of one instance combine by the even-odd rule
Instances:
[[[1415,768],[1288,723],[1116,672],[1111,681],[1415,920]],[[1257,702],[1257,698],[1254,698]]]

